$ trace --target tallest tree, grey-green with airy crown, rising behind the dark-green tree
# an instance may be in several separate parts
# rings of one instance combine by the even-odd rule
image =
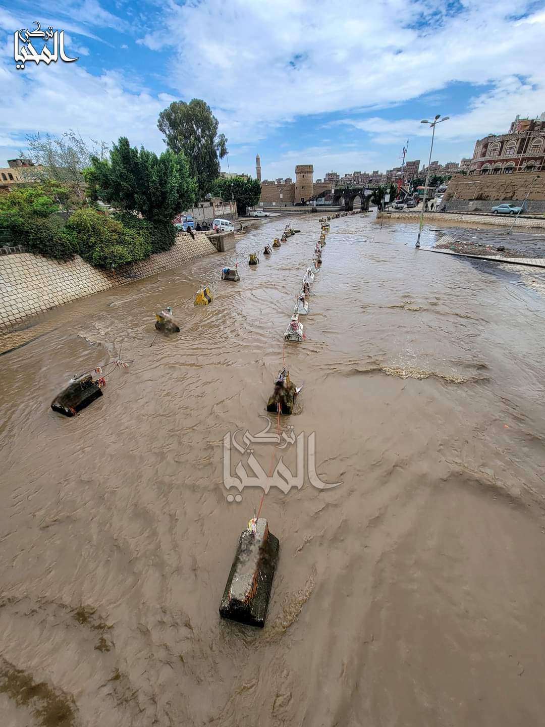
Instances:
[[[157,126],[169,149],[185,154],[202,199],[219,177],[219,159],[227,154],[227,139],[217,133],[218,120],[209,105],[198,98],[190,103],[173,101],[159,113]]]

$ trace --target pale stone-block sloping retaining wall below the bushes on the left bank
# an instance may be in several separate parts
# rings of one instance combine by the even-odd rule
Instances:
[[[56,262],[24,252],[0,257],[0,330],[71,300],[177,268],[217,252],[204,233],[179,233],[167,252],[113,272],[93,268],[81,257]]]

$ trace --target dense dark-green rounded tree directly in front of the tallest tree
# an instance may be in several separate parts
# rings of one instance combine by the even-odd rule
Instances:
[[[89,196],[152,222],[169,224],[195,201],[195,181],[185,156],[170,149],[157,156],[132,147],[126,137],[113,145],[110,159],[91,157],[84,170]]]

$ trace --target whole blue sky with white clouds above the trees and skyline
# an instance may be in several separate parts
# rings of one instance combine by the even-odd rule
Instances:
[[[159,111],[206,100],[228,139],[231,172],[294,176],[384,171],[408,159],[472,156],[517,113],[545,111],[545,0],[12,0],[0,5],[0,166],[25,134],[164,148]],[[13,32],[65,31],[75,63],[17,71]],[[223,168],[227,169],[225,160]]]

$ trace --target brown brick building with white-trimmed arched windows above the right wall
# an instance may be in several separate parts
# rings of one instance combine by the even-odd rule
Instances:
[[[488,134],[475,142],[469,174],[512,174],[545,169],[545,113],[517,116],[507,134]]]

